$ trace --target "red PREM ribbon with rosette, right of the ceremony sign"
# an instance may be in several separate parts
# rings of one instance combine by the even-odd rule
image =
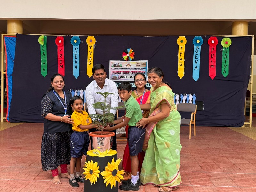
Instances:
[[[216,46],[218,44],[217,37],[210,37],[209,44],[209,76],[213,80],[216,76]]]

